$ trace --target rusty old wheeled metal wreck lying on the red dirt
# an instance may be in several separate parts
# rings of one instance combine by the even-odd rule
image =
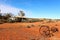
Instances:
[[[52,37],[54,36],[53,33],[58,32],[58,29],[56,27],[49,28],[49,26],[42,25],[39,29],[39,32],[45,37]]]

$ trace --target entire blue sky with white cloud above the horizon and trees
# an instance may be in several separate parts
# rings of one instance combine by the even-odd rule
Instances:
[[[60,19],[60,0],[0,0],[0,10],[14,15],[23,10],[29,18]]]

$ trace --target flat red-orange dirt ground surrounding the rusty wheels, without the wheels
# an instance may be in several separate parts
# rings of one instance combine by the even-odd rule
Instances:
[[[45,40],[60,40],[60,22],[0,24],[0,40],[43,40],[44,37],[41,36],[39,32],[39,25],[48,25],[50,28],[57,27],[59,32],[54,33],[53,37],[46,38]],[[28,26],[30,26],[31,28],[28,28]]]

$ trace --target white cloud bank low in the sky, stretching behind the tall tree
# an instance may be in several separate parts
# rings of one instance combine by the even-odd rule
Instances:
[[[32,16],[31,15],[32,12],[30,10],[20,9],[20,8],[12,7],[12,6],[5,5],[5,4],[0,4],[0,10],[2,13],[13,13],[14,15],[18,15],[19,11],[23,10],[27,17]]]

